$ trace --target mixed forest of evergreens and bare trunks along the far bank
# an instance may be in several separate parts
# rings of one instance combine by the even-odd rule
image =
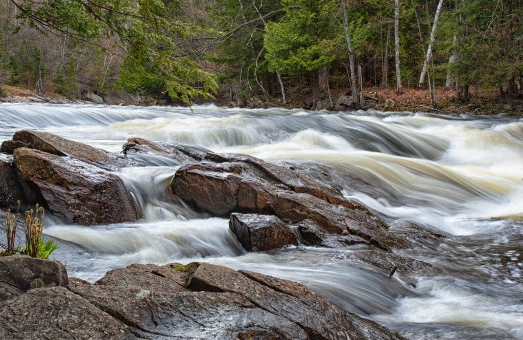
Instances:
[[[333,108],[369,88],[523,97],[523,1],[2,0],[0,84]]]

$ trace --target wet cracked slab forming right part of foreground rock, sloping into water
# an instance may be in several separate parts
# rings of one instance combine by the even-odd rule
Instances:
[[[187,287],[242,295],[258,308],[300,325],[311,339],[402,338],[372,321],[338,309],[300,283],[259,273],[202,263],[190,273]]]

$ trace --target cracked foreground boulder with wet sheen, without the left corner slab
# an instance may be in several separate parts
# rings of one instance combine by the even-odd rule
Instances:
[[[199,262],[132,265],[69,289],[140,338],[403,339],[302,284]]]

